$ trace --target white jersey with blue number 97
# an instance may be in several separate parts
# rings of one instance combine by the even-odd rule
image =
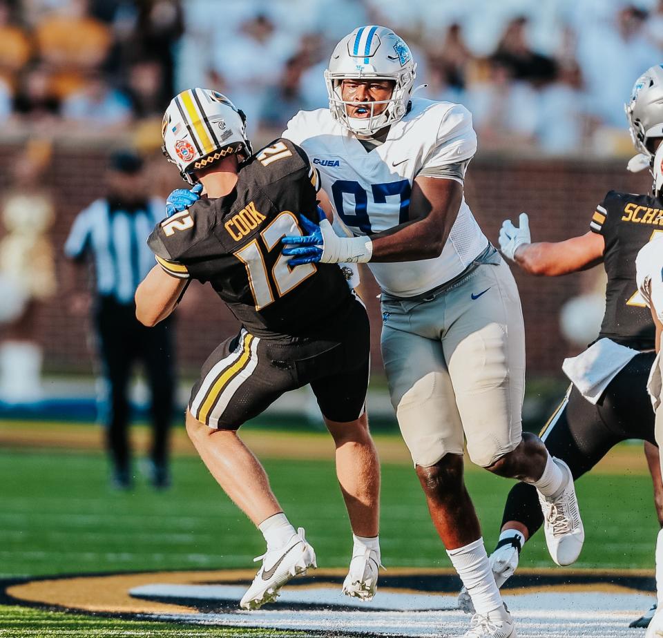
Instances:
[[[421,98],[412,99],[410,112],[392,124],[385,142],[370,152],[327,108],[300,111],[283,137],[307,152],[336,213],[355,235],[407,222],[414,178],[423,171],[462,183],[462,171],[477,151],[472,116],[464,106]],[[462,170],[458,176],[445,175],[445,166]],[[459,275],[487,246],[463,197],[439,257],[368,265],[383,291],[412,297]]]

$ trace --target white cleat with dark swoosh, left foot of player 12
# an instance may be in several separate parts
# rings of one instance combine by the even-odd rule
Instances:
[[[297,534],[282,547],[268,551],[254,560],[261,559],[262,567],[240,601],[242,609],[260,609],[265,603],[272,603],[278,598],[280,588],[285,583],[305,574],[309,567],[318,567],[316,552],[306,542],[303,528],[299,528]]]

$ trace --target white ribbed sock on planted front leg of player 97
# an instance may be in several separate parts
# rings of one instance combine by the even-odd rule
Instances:
[[[501,609],[502,598],[488,563],[483,538],[457,550],[447,550],[447,554],[468,590],[477,614],[486,616],[489,612]]]

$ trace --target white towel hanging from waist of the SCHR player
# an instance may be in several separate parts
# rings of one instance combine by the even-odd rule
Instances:
[[[576,357],[564,359],[561,369],[590,403],[596,404],[608,384],[637,350],[602,338]]]

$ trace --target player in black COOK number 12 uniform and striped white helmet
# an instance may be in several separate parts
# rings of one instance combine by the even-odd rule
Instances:
[[[310,384],[336,443],[336,471],[354,532],[343,591],[371,599],[380,566],[378,458],[365,395],[369,322],[337,264],[290,267],[280,239],[318,220],[318,175],[301,148],[276,139],[251,155],[243,113],[213,90],[177,95],[163,122],[164,152],[206,198],[157,224],[157,265],[136,293],[146,325],[168,316],[191,279],[209,282],[242,327],[202,367],[186,429],[228,496],[265,537],[262,567],[240,605],[273,601],[316,555],[271,492],[265,470],[237,436],[284,392]],[[200,192],[200,186],[196,186]],[[197,196],[192,199],[197,199]]]

